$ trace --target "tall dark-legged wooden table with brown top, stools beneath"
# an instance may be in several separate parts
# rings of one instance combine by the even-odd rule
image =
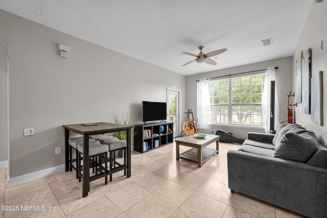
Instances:
[[[69,131],[73,131],[83,135],[83,171],[82,177],[82,196],[88,195],[88,183],[89,183],[89,155],[88,155],[88,139],[90,135],[104,134],[110,132],[127,131],[127,151],[126,151],[126,165],[127,165],[127,177],[131,176],[131,126],[110,124],[110,123],[97,123],[97,126],[83,126],[81,124],[63,125],[64,138],[65,138],[65,171],[69,171]],[[111,172],[112,173],[112,172]],[[107,176],[107,175],[102,175]]]

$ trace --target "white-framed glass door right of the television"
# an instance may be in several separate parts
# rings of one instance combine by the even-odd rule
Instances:
[[[179,136],[180,131],[180,90],[167,88],[167,111],[168,121],[174,123],[174,138]]]

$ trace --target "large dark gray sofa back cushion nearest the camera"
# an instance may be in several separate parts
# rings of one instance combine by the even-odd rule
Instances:
[[[316,135],[311,131],[288,132],[276,146],[273,157],[304,163],[318,150],[317,144]]]

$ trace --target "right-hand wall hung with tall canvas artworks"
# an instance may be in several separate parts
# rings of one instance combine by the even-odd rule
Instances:
[[[327,146],[327,26],[322,20],[327,20],[327,2],[322,1],[320,4],[313,4],[305,26],[303,27],[300,38],[297,42],[296,49],[293,55],[293,90],[296,88],[296,59],[300,56],[300,52],[305,53],[311,47],[311,72],[312,75],[318,74],[320,70],[323,71],[323,126],[317,126],[311,123],[310,114],[302,113],[302,104],[295,108],[295,121],[307,129],[315,132],[319,142],[325,147]],[[320,43],[323,40],[323,51],[320,52]]]

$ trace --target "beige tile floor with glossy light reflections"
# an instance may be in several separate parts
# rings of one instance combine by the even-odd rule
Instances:
[[[215,144],[209,147],[215,148]],[[6,188],[8,170],[1,168],[0,205],[19,208],[0,211],[0,218],[302,217],[230,192],[226,154],[238,148],[239,144],[220,142],[219,154],[201,168],[190,161],[176,161],[175,143],[144,154],[132,152],[132,176],[126,178],[119,172],[107,185],[104,178],[91,182],[86,198],[82,198],[82,183],[75,179],[75,172]],[[180,150],[188,149],[181,146]]]

